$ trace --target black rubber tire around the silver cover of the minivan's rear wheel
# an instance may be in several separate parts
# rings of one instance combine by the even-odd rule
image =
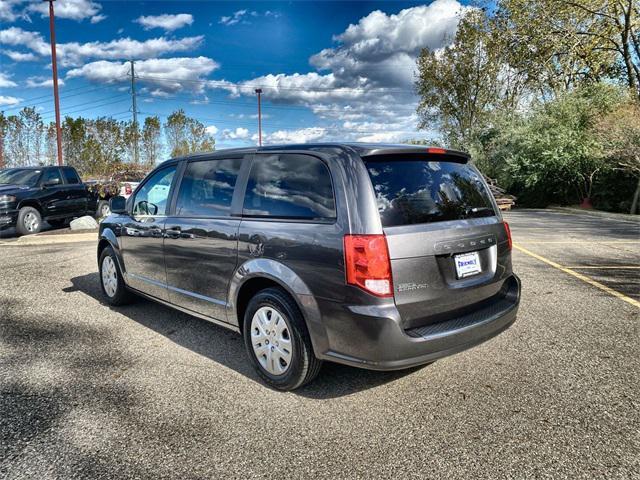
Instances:
[[[268,372],[254,352],[251,338],[251,322],[262,307],[275,309],[285,321],[291,340],[291,361],[280,375]],[[295,301],[280,288],[267,288],[258,292],[247,305],[243,324],[244,344],[249,359],[258,375],[270,387],[278,390],[295,390],[313,380],[320,372],[322,361],[313,354],[307,326]],[[268,343],[268,341],[267,341]],[[273,350],[273,346],[270,347]],[[277,347],[276,347],[277,348]]]

